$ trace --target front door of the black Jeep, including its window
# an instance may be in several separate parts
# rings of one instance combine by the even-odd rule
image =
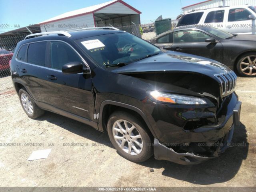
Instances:
[[[90,74],[63,74],[62,66],[69,62],[85,61],[70,46],[62,41],[51,41],[49,46],[50,62],[44,90],[47,97],[44,102],[61,110],[94,120],[94,97],[92,94],[92,78]]]

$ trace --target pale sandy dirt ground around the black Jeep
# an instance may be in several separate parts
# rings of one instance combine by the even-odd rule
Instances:
[[[1,81],[3,78],[0,85]],[[235,130],[233,141],[242,146],[229,148],[219,158],[195,166],[153,157],[140,164],[130,162],[116,153],[107,134],[85,124],[51,112],[38,120],[28,118],[15,91],[7,87],[0,90],[0,186],[255,187],[255,85],[256,78],[238,78],[242,125]],[[84,146],[71,146],[72,142]],[[34,150],[48,148],[52,149],[48,158],[27,161]]]

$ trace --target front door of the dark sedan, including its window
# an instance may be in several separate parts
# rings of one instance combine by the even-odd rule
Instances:
[[[222,62],[223,46],[216,43],[205,42],[210,36],[198,30],[181,30],[174,32],[172,50],[203,56]]]

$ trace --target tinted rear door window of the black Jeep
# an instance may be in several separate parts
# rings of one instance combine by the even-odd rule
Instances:
[[[39,66],[45,66],[46,44],[47,42],[29,44],[27,62]]]

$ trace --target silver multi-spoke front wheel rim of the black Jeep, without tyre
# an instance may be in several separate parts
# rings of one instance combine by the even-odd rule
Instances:
[[[126,153],[138,155],[142,152],[143,140],[138,129],[126,120],[117,120],[112,128],[118,146]]]

